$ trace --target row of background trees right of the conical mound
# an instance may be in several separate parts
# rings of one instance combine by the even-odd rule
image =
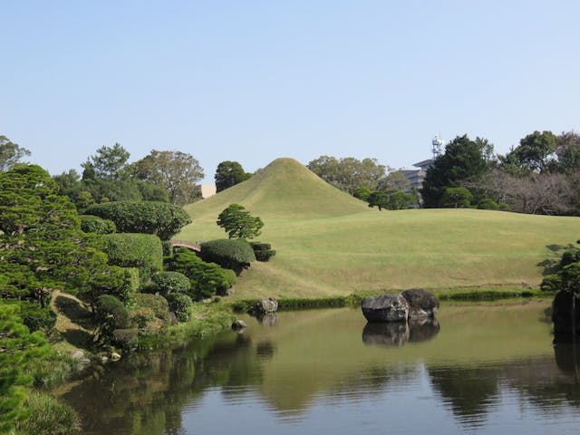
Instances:
[[[376,159],[321,156],[316,175],[379,209],[485,208],[580,215],[580,135],[534,131],[507,154],[484,138],[457,136],[435,159],[420,191]]]

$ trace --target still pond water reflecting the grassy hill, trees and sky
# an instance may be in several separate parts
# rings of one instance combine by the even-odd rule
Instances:
[[[580,353],[547,303],[443,305],[439,325],[278,313],[108,365],[63,399],[91,435],[578,433]]]

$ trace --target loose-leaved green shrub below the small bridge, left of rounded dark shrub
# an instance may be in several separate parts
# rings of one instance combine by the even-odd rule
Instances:
[[[169,269],[189,278],[189,295],[198,300],[212,295],[226,295],[236,283],[236,274],[215,263],[206,263],[186,248],[179,248],[168,263]]]

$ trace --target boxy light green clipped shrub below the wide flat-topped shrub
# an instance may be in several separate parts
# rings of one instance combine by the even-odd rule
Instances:
[[[159,237],[149,234],[118,233],[103,236],[109,264],[137,267],[141,282],[163,268],[163,248]]]

